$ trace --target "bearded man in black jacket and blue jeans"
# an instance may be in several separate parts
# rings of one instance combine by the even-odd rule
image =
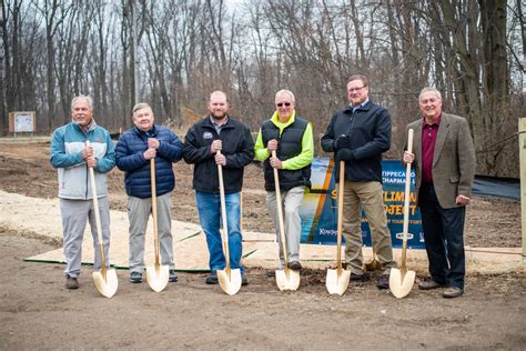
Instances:
[[[243,187],[243,169],[254,158],[254,141],[249,127],[234,120],[226,112],[226,94],[214,91],[209,100],[210,116],[193,124],[184,142],[184,160],[193,163],[193,189],[198,203],[201,228],[206,235],[211,274],[208,284],[216,284],[216,270],[225,268],[220,219],[221,199],[218,164],[223,167],[223,181],[229,228],[230,263],[241,270],[243,285],[247,284],[241,267],[240,192]],[[218,154],[218,151],[221,151]]]

